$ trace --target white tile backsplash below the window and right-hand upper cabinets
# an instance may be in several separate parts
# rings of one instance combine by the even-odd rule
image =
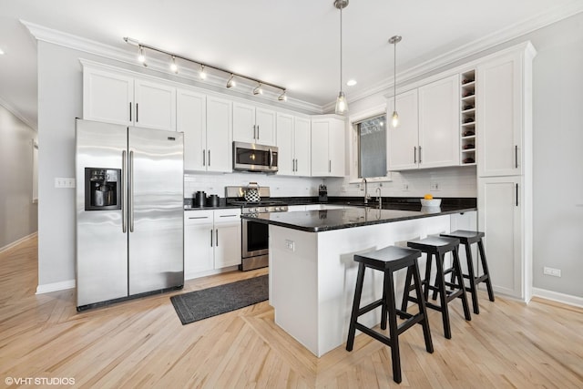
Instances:
[[[392,181],[369,182],[369,195],[376,196],[375,190],[381,186],[384,197],[423,197],[426,193],[435,198],[477,197],[476,167],[392,172],[391,178]],[[358,197],[364,194],[360,182],[350,183],[348,178],[324,179],[324,184],[328,186],[330,196]]]

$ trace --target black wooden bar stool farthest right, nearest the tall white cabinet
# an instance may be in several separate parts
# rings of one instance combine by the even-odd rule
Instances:
[[[490,272],[488,271],[488,264],[486,262],[486,251],[484,250],[484,243],[482,238],[484,238],[484,232],[480,231],[467,231],[467,230],[455,230],[454,232],[441,234],[441,236],[447,238],[459,239],[460,243],[465,247],[465,260],[467,261],[467,274],[462,273],[462,277],[469,280],[470,287],[465,288],[467,292],[472,293],[472,305],[474,307],[474,313],[480,313],[480,307],[477,303],[477,284],[480,282],[486,282],[486,289],[488,291],[488,298],[491,302],[494,302],[494,291],[492,290],[492,282],[490,281]],[[472,258],[472,250],[470,245],[472,243],[477,243],[478,257],[480,257],[482,263],[482,269],[484,274],[476,276],[474,272],[474,260]],[[479,267],[478,267],[479,271]],[[452,272],[452,279],[455,275]]]

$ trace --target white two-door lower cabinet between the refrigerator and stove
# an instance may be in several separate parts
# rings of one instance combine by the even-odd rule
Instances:
[[[240,210],[189,210],[184,214],[184,278],[240,265]]]

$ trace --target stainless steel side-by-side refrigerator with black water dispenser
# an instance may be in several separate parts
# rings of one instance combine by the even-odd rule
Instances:
[[[184,284],[183,134],[77,119],[77,311]]]

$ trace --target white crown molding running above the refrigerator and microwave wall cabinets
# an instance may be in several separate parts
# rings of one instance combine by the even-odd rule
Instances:
[[[87,39],[81,36],[74,36],[62,31],[58,31],[46,26],[39,26],[34,23],[26,22],[25,20],[20,20],[20,22],[26,26],[28,31],[37,40],[47,42],[50,44],[65,46],[77,51],[81,51],[87,54],[102,56],[107,59],[112,59],[115,61],[123,62],[132,65],[137,68],[141,68],[136,60],[135,50],[124,50],[118,47],[105,45],[97,41]],[[119,38],[120,41],[122,37]],[[179,74],[169,70],[169,62],[161,60],[154,56],[148,56],[147,58],[148,70],[153,70],[164,75],[168,75],[171,78],[184,78],[190,81],[194,81],[197,87],[209,88],[213,92],[218,92],[222,95],[228,97],[241,97],[251,101],[258,101],[265,104],[269,104],[272,107],[281,107],[282,109],[299,109],[303,112],[309,114],[319,114],[322,113],[322,106],[312,104],[306,101],[302,101],[296,98],[288,96],[286,102],[278,101],[277,97],[281,94],[272,92],[268,87],[264,87],[263,94],[261,96],[252,95],[253,88],[256,85],[247,85],[243,83],[238,83],[238,86],[234,89],[225,89],[227,83],[227,77],[219,77],[212,74],[212,69],[208,69],[207,78],[203,81],[199,77],[198,69],[192,69],[191,67],[180,67]],[[219,90],[217,90],[219,89]],[[289,90],[288,90],[289,92]],[[251,97],[251,98],[249,98]]]

